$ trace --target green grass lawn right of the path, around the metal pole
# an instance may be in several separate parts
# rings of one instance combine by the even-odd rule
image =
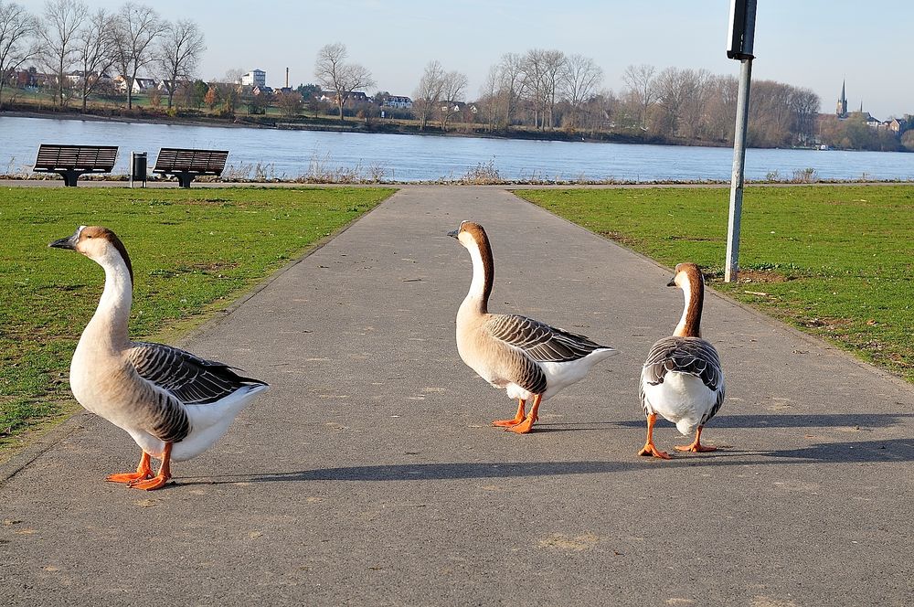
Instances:
[[[515,194],[914,381],[914,186],[747,188],[734,284],[727,188]]]

